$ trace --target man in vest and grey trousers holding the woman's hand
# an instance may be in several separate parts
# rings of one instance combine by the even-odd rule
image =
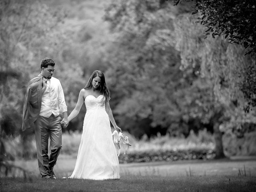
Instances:
[[[50,58],[41,62],[41,73],[30,80],[23,105],[22,130],[35,131],[37,160],[42,178],[56,179],[53,167],[62,147],[61,117],[68,126],[67,106],[60,80],[52,77],[55,63]],[[48,139],[50,137],[50,156]]]

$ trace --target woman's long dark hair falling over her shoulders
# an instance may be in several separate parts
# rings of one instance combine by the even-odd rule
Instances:
[[[95,78],[97,76],[100,78],[100,93],[102,93],[104,98],[106,99],[106,101],[109,102],[109,100],[110,100],[110,92],[109,92],[108,87],[106,85],[105,75],[104,75],[103,72],[98,71],[98,70],[94,71],[92,73],[92,75],[90,76],[90,79],[88,80],[88,82],[87,82],[86,86],[84,87],[84,89],[92,88],[92,80],[93,80],[93,78]]]

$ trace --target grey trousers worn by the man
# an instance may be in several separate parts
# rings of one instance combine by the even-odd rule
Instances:
[[[43,177],[51,176],[62,147],[61,117],[49,118],[39,116],[35,121],[35,139],[37,160],[40,174]],[[50,156],[48,156],[48,140],[50,138]]]

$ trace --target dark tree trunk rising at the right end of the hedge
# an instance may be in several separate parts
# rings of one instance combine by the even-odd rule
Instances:
[[[223,152],[223,145],[222,145],[222,132],[219,129],[220,124],[218,122],[214,123],[213,130],[214,130],[214,140],[215,140],[215,150],[216,156],[215,159],[225,158],[225,154]]]

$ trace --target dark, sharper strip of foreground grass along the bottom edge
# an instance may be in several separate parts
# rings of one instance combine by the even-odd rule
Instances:
[[[256,177],[237,176],[123,176],[120,180],[1,178],[1,192],[254,192]]]

